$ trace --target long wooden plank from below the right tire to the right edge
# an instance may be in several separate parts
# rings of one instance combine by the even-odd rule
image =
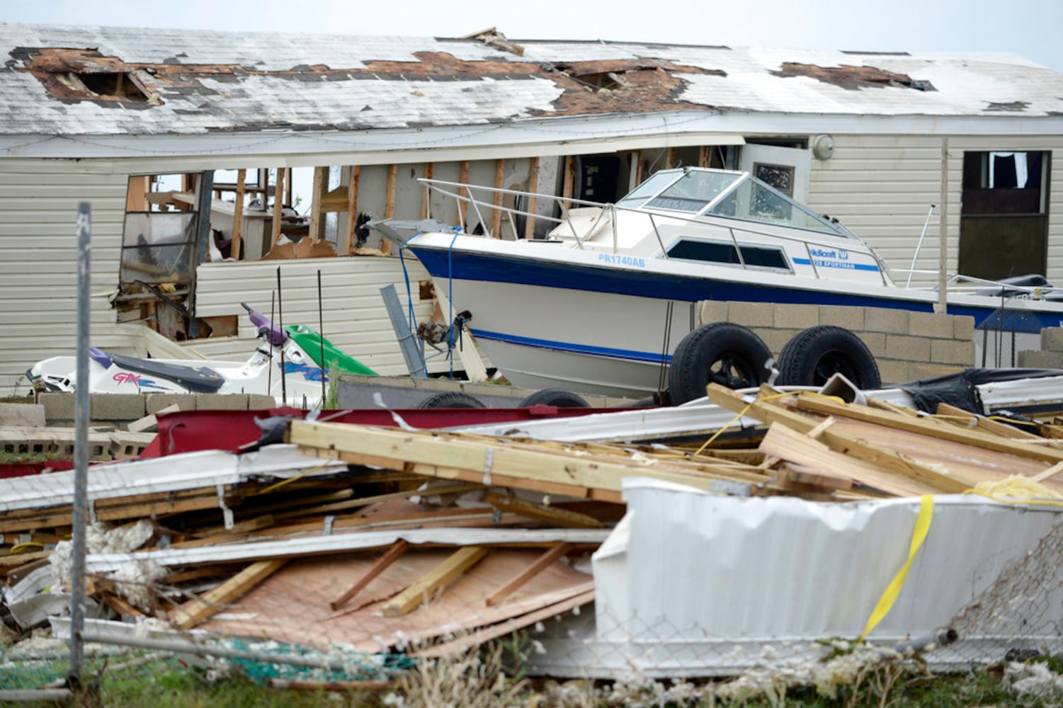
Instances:
[[[1005,440],[997,436],[984,435],[977,431],[946,425],[940,421],[926,420],[925,418],[912,418],[885,410],[875,410],[866,406],[838,403],[822,395],[802,393],[797,397],[796,405],[802,410],[851,418],[906,433],[929,435],[943,440],[962,442],[975,448],[1009,453],[1019,457],[1029,457],[1052,463],[1063,461],[1063,450],[1026,444],[1017,440]]]

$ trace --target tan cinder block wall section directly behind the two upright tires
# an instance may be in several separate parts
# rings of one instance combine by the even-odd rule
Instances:
[[[701,324],[733,322],[749,327],[775,356],[802,330],[820,324],[844,327],[867,345],[883,385],[975,366],[975,321],[965,316],[881,307],[706,301],[698,307],[698,317]]]

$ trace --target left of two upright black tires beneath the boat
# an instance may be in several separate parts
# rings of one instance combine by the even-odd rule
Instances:
[[[705,395],[709,383],[728,388],[759,386],[767,381],[764,364],[772,352],[752,330],[714,322],[679,341],[668,372],[669,401],[679,405]]]

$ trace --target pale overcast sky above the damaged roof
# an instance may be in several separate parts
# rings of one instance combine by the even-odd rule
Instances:
[[[1063,71],[1063,0],[3,0],[0,20],[251,32],[1014,52]]]

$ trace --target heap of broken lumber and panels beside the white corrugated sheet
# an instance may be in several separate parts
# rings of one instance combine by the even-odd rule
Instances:
[[[706,412],[763,425],[602,443],[292,420],[289,444],[94,466],[86,636],[121,643],[150,620],[156,639],[415,657],[475,646],[593,602],[589,557],[632,477],[848,502],[992,494],[1017,475],[1063,498],[1052,424],[766,387],[710,385],[709,398]],[[69,604],[72,474],[13,479],[0,500],[4,620],[22,630]]]

